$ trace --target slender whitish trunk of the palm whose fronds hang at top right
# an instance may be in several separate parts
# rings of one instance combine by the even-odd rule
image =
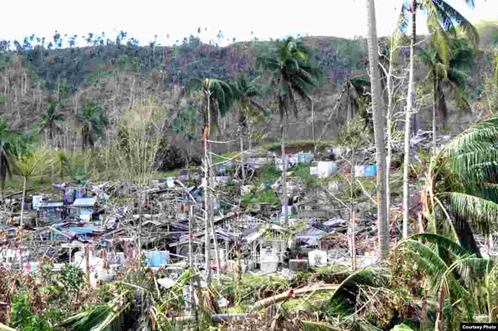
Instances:
[[[413,81],[414,74],[414,58],[415,58],[415,42],[416,42],[416,11],[417,1],[413,0],[411,4],[411,45],[410,45],[410,69],[408,77],[408,96],[406,100],[406,116],[405,116],[405,137],[404,137],[404,166],[403,166],[403,238],[408,237],[408,170],[410,167],[410,124],[411,112],[413,111],[413,99],[415,98],[415,86]]]

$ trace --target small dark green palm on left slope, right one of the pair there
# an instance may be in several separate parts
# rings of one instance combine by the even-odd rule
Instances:
[[[81,147],[85,152],[87,147],[94,147],[95,141],[102,135],[103,128],[109,125],[109,119],[104,116],[97,102],[87,101],[85,108],[80,109],[77,120],[82,124]]]

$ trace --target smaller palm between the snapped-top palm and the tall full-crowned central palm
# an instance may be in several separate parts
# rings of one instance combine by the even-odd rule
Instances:
[[[240,126],[240,140],[241,140],[241,163],[244,165],[244,133],[248,128],[248,118],[265,115],[267,112],[263,106],[254,100],[256,97],[262,95],[261,89],[257,85],[257,78],[249,81],[249,79],[242,74],[241,77],[233,82],[233,90],[235,92],[235,105],[239,109],[239,126]],[[242,176],[246,179],[246,171],[242,166]]]

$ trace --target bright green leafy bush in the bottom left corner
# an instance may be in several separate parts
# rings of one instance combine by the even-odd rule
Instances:
[[[44,319],[33,314],[28,295],[20,292],[12,296],[10,308],[10,325],[17,330],[23,331],[52,331],[52,327]]]

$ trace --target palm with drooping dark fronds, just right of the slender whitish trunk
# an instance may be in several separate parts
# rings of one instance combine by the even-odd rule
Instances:
[[[448,119],[448,108],[446,106],[445,95],[442,91],[441,84],[444,81],[450,83],[453,97],[464,109],[471,109],[469,101],[466,98],[465,88],[467,86],[467,72],[474,67],[474,52],[473,49],[467,46],[465,39],[451,40],[451,58],[448,64],[440,54],[440,51],[433,43],[425,50],[422,47],[418,48],[420,60],[429,67],[429,73],[426,77],[432,83],[433,93],[433,147],[436,142],[436,114],[443,116],[444,123]],[[438,110],[438,111],[437,111]]]

